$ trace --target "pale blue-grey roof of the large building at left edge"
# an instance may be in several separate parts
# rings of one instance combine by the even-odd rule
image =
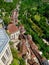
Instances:
[[[0,28],[0,53],[5,48],[6,44],[9,42],[9,37],[3,28]]]

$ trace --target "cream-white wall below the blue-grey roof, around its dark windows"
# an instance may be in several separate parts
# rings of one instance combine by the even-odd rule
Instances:
[[[9,48],[9,53],[10,53],[10,56],[9,56],[9,57],[7,57],[7,55],[5,55],[5,52],[6,52],[6,50],[7,50],[8,48]],[[4,50],[2,51],[2,53],[1,53],[1,55],[0,55],[0,64],[1,64],[1,65],[5,65],[5,64],[2,62],[2,60],[1,60],[1,58],[2,58],[4,55],[5,55],[5,58],[7,59],[7,64],[6,64],[6,65],[10,65],[11,62],[12,62],[12,60],[13,60],[13,57],[12,57],[12,54],[11,54],[11,50],[10,50],[9,44],[6,45],[6,47],[4,48]]]

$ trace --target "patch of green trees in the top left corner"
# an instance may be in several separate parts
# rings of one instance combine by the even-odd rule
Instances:
[[[0,0],[0,9],[4,8],[6,12],[11,13],[11,11],[16,8],[16,4],[18,2],[19,2],[19,0],[13,0],[13,2],[11,2],[11,3]]]

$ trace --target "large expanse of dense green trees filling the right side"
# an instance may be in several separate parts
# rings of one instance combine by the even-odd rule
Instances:
[[[41,0],[22,0],[19,19],[26,33],[32,35],[33,41],[39,46],[43,56],[49,59],[49,46],[42,40],[42,38],[49,39],[49,25],[46,23],[45,15],[48,13],[47,8],[49,8],[48,5]]]

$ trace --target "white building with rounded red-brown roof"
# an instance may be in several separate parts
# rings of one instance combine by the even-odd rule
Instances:
[[[12,42],[18,41],[20,31],[19,31],[17,26],[15,26],[14,24],[9,24],[8,25],[8,32],[10,34],[10,39]]]

